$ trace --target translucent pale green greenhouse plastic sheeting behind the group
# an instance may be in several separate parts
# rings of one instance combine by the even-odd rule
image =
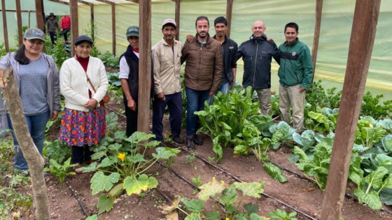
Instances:
[[[26,0],[22,0],[26,1]],[[46,3],[46,1],[45,1]],[[210,34],[213,36],[214,19],[225,16],[226,0],[181,0],[180,41],[185,41],[188,34],[195,34],[195,20],[199,15],[206,15],[210,20]],[[318,46],[315,80],[323,80],[326,88],[342,89],[346,62],[349,51],[349,41],[353,22],[355,0],[323,1],[321,33]],[[23,6],[23,4],[22,4]],[[57,4],[56,6],[63,6]],[[251,27],[255,20],[263,20],[267,30],[265,34],[272,37],[276,45],[285,41],[284,25],[296,22],[299,29],[300,41],[307,44],[311,50],[314,36],[316,0],[235,0],[232,11],[231,38],[238,44],[248,40]],[[28,10],[27,8],[23,8]],[[33,8],[30,8],[34,10]],[[45,12],[50,11],[45,6]],[[79,33],[86,33],[90,22],[90,6],[79,5]],[[174,19],[175,3],[169,0],[153,0],[152,3],[152,45],[162,38],[162,21]],[[34,19],[31,18],[31,20]],[[367,91],[374,94],[384,94],[392,98],[392,1],[381,1],[377,34],[372,51],[369,73],[367,76]],[[100,51],[112,51],[111,48],[111,6],[105,3],[94,5],[94,22],[97,27],[97,47]],[[25,22],[24,22],[25,23]],[[116,55],[120,55],[127,47],[125,32],[127,27],[139,24],[139,5],[137,3],[116,4]],[[9,24],[8,24],[9,25]],[[9,27],[9,26],[8,26]],[[0,36],[0,42],[3,36]],[[365,51],[364,51],[365,52]],[[239,60],[237,80],[241,82],[243,63]],[[279,65],[272,61],[272,90],[279,89],[277,70]]]

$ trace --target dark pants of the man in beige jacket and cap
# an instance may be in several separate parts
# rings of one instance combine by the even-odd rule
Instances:
[[[181,134],[181,121],[183,118],[183,98],[181,91],[175,94],[165,95],[165,100],[163,101],[157,95],[154,95],[153,134],[155,135],[155,140],[158,141],[163,141],[162,119],[166,105],[169,107],[169,122],[173,137],[179,137]]]

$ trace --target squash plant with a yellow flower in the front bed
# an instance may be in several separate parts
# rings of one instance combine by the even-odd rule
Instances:
[[[102,194],[99,197],[97,204],[99,214],[111,210],[114,198],[120,196],[123,191],[127,191],[128,196],[139,195],[142,191],[158,186],[157,179],[146,175],[146,171],[159,159],[171,159],[172,156],[179,153],[179,149],[155,148],[160,142],[156,140],[148,142],[150,138],[155,138],[155,135],[135,132],[126,138],[126,136],[120,136],[118,132],[120,131],[116,131],[117,138],[123,138],[121,141],[124,144],[115,142],[109,145],[106,151],[96,152],[92,158],[102,155],[104,159],[101,163],[94,162],[90,166],[78,169],[83,173],[96,172],[90,180],[92,195],[109,191],[109,196]],[[155,153],[151,158],[148,158],[146,152],[154,148]],[[143,149],[141,153],[139,153],[140,149]],[[118,185],[113,187],[114,184]],[[111,191],[112,188],[113,191]]]

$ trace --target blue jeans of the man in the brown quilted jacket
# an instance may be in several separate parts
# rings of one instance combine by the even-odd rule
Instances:
[[[193,112],[201,111],[204,109],[204,102],[209,97],[209,90],[197,91],[185,88],[186,101],[186,136],[192,137],[195,131],[199,129],[199,118]]]

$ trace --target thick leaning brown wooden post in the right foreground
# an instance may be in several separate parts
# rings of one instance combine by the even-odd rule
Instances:
[[[376,35],[381,0],[357,0],[321,219],[337,220],[346,192],[353,140]]]

